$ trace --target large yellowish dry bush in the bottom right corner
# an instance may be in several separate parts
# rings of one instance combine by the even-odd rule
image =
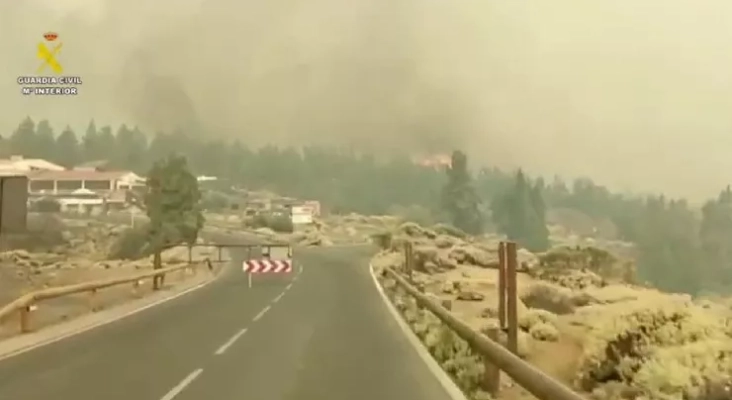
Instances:
[[[605,318],[591,330],[577,378],[598,397],[701,400],[732,377],[726,317],[672,296],[598,312]]]

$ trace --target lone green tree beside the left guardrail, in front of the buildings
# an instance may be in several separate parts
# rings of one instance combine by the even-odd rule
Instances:
[[[198,181],[183,156],[170,155],[155,162],[147,174],[145,210],[155,269],[162,268],[163,250],[181,243],[193,245],[203,227]],[[155,278],[155,288],[162,284]]]

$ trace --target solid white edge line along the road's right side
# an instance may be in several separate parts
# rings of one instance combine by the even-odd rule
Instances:
[[[459,387],[453,382],[452,378],[445,372],[444,369],[437,363],[437,361],[432,357],[432,354],[430,354],[429,350],[424,346],[421,340],[417,337],[417,335],[414,333],[412,328],[407,325],[406,321],[404,321],[404,318],[402,318],[401,314],[399,314],[399,311],[397,311],[396,307],[391,303],[391,300],[389,300],[389,297],[386,295],[386,292],[384,291],[384,288],[381,286],[381,283],[379,283],[379,279],[376,277],[376,272],[374,271],[373,264],[369,263],[369,273],[371,274],[371,279],[374,281],[374,285],[376,285],[376,290],[379,292],[379,295],[381,296],[381,299],[384,301],[384,304],[386,305],[386,308],[389,310],[389,313],[394,317],[399,327],[402,329],[402,332],[404,333],[404,336],[407,337],[407,340],[409,343],[412,344],[412,347],[414,347],[414,350],[417,352],[419,357],[424,361],[424,363],[427,365],[427,369],[432,372],[432,374],[437,378],[437,381],[440,382],[440,385],[445,389],[445,392],[450,396],[452,400],[468,400],[468,398],[465,396],[465,393],[463,393],[462,390],[460,390]]]

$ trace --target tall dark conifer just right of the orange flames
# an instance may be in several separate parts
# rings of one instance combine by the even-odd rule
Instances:
[[[452,153],[447,168],[447,183],[442,192],[442,205],[455,227],[478,234],[483,230],[480,199],[468,172],[468,157],[461,151]]]

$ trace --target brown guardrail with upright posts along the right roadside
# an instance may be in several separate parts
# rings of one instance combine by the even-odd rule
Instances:
[[[506,246],[507,245],[507,246]],[[513,243],[506,243],[505,245],[501,244],[501,259],[502,261],[505,261],[505,255],[503,254],[503,249],[506,247],[513,247]],[[514,245],[515,246],[515,245]],[[411,277],[411,264],[412,263],[412,255],[411,253],[411,246],[407,245],[407,252],[406,252],[406,259],[407,259],[407,273],[408,276]],[[513,247],[515,249],[515,247]],[[511,257],[509,257],[511,258]],[[515,266],[515,261],[514,261]],[[504,264],[505,265],[505,264]],[[514,270],[515,271],[515,270]],[[501,371],[504,371],[508,376],[510,376],[517,384],[522,386],[524,389],[526,389],[529,393],[533,394],[538,398],[539,400],[586,400],[585,397],[580,395],[579,393],[572,390],[570,387],[566,386],[565,384],[559,382],[558,380],[552,378],[551,376],[547,375],[543,371],[539,370],[538,368],[534,367],[533,365],[527,363],[526,361],[519,358],[517,355],[514,354],[516,351],[516,344],[515,339],[511,340],[512,334],[515,335],[516,328],[514,326],[513,329],[510,328],[511,319],[515,320],[515,314],[510,315],[512,313],[509,312],[509,340],[508,345],[509,349],[513,349],[513,352],[505,347],[503,347],[500,343],[498,343],[495,339],[489,338],[488,336],[474,331],[470,326],[468,326],[466,323],[460,321],[458,318],[456,318],[452,313],[443,307],[442,305],[438,304],[436,301],[431,299],[426,294],[422,293],[419,289],[412,286],[410,282],[402,277],[399,272],[391,269],[391,268],[385,268],[384,269],[385,275],[390,276],[393,278],[396,283],[403,288],[410,296],[414,297],[414,299],[417,301],[417,304],[421,307],[426,308],[430,312],[432,312],[437,318],[442,321],[447,327],[452,329],[455,334],[457,334],[460,338],[465,340],[472,348],[473,350],[480,354],[483,357],[484,365],[485,365],[485,377],[483,382],[483,388],[490,392],[493,395],[496,395],[498,393],[498,387],[499,387],[499,369]],[[505,274],[505,272],[504,272]],[[510,275],[510,274],[508,274]],[[505,278],[504,278],[505,279]],[[515,282],[515,279],[508,278],[507,282],[504,281],[502,283],[502,286],[505,286],[506,283],[508,285],[512,284],[512,281]],[[513,284],[515,288],[515,283]],[[515,291],[512,293],[515,296]],[[512,304],[515,304],[514,302],[511,302],[510,297],[508,296],[508,308],[512,308]],[[502,307],[499,307],[502,308]],[[505,309],[502,309],[503,311]],[[512,318],[513,317],[513,318]],[[513,332],[512,332],[513,331]],[[497,333],[497,332],[494,332]],[[497,336],[496,336],[497,337]],[[513,342],[513,343],[512,343]]]

